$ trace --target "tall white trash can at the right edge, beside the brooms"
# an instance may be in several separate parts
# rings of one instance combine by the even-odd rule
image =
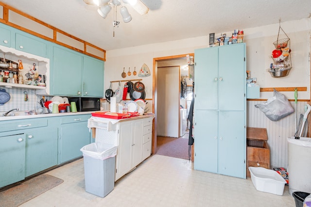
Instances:
[[[287,141],[290,194],[294,191],[311,193],[311,138],[289,137]]]

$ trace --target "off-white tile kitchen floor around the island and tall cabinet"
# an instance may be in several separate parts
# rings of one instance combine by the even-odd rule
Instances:
[[[295,207],[288,186],[282,196],[260,192],[250,178],[193,170],[189,160],[162,155],[124,175],[104,198],[85,191],[83,159],[47,174],[64,182],[21,207]]]

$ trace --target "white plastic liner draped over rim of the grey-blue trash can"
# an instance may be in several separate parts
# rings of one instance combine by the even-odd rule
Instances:
[[[90,143],[80,149],[83,156],[94,159],[108,159],[117,155],[117,146],[107,143]]]

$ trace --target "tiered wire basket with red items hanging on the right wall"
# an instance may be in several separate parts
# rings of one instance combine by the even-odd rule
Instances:
[[[276,48],[272,51],[271,56],[274,63],[271,63],[268,69],[273,78],[285,77],[292,69],[291,40],[285,32],[287,38],[279,39],[280,30],[284,32],[281,28],[281,20],[279,20],[277,40],[273,43]]]

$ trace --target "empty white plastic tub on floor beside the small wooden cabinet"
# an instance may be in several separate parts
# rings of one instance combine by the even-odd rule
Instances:
[[[248,167],[248,170],[257,191],[283,195],[286,181],[276,171],[263,167]]]

